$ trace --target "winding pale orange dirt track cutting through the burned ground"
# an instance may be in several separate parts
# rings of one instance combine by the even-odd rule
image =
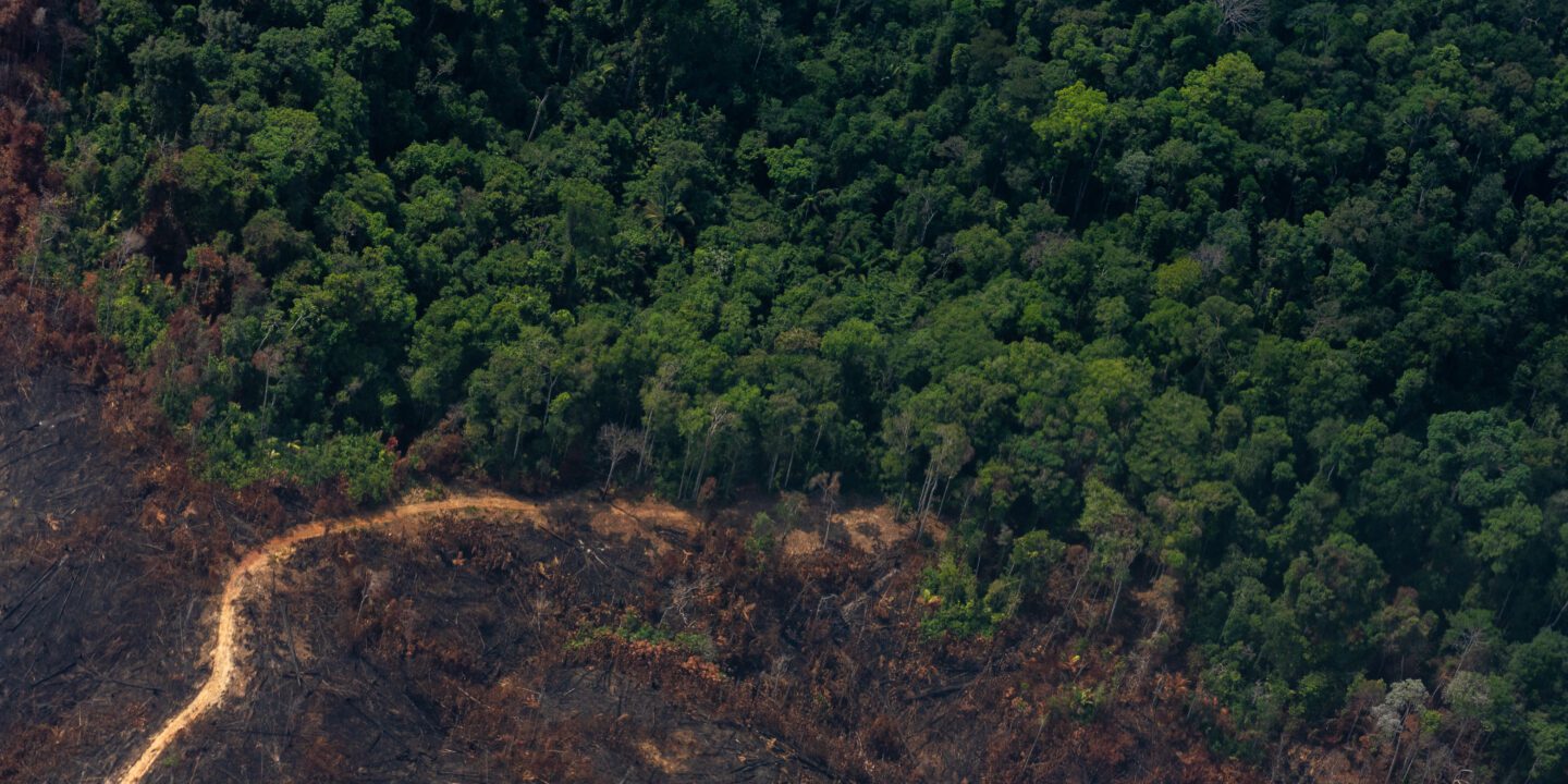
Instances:
[[[306,522],[273,539],[268,539],[260,547],[246,554],[245,558],[240,560],[240,564],[229,572],[229,580],[223,585],[223,602],[218,605],[218,633],[212,648],[212,674],[207,676],[207,682],[202,684],[201,691],[191,698],[185,709],[176,713],[174,718],[171,718],[155,735],[152,735],[146,748],[141,751],[141,756],[136,757],[136,762],[127,767],[125,771],[113,781],[116,784],[138,784],[147,771],[152,770],[152,765],[157,764],[158,757],[168,751],[169,745],[174,743],[174,739],[183,732],[185,728],[196,723],[196,720],[199,720],[204,713],[216,707],[218,702],[221,702],[229,693],[229,688],[234,685],[235,660],[241,652],[237,615],[240,608],[240,593],[245,588],[246,577],[262,571],[270,563],[287,558],[299,543],[325,536],[328,532],[386,528],[392,524],[416,517],[428,517],[444,511],[464,510],[519,511],[527,513],[533,524],[544,524],[543,506],[533,502],[497,494],[453,495],[442,500],[403,503],[372,514]]]

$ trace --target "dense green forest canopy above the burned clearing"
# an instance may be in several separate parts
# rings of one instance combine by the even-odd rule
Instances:
[[[953,530],[931,635],[1083,547],[1220,748],[1568,781],[1568,5],[71,13],[17,267],[209,477],[842,480]]]

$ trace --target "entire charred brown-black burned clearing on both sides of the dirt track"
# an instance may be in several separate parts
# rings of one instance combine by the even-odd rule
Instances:
[[[11,367],[0,781],[102,779],[199,688],[237,557],[342,510],[194,480],[91,365]],[[760,510],[798,519],[759,530]],[[1058,599],[930,638],[930,543],[856,514],[823,547],[801,497],[698,519],[568,495],[547,528],[314,539],[246,594],[240,690],[147,781],[1258,779],[1206,750],[1223,717],[1151,643],[1179,624],[1154,593],[1107,633],[1069,552]]]

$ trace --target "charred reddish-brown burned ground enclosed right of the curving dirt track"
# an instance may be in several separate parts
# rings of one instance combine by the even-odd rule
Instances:
[[[927,640],[914,549],[547,517],[303,546],[249,594],[243,688],[149,781],[1248,778],[1181,729],[1179,677],[1073,654],[1060,624]]]

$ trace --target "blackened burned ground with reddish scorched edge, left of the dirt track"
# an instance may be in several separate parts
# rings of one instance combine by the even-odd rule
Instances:
[[[198,481],[91,303],[0,270],[0,781],[107,776],[188,699],[234,554],[270,488]]]

